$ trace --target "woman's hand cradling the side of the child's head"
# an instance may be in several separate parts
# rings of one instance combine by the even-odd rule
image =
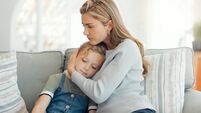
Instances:
[[[68,61],[68,67],[67,67],[68,76],[67,77],[69,79],[71,79],[72,73],[75,71],[75,61],[76,61],[77,54],[78,54],[78,49],[75,49],[73,53],[71,54]]]

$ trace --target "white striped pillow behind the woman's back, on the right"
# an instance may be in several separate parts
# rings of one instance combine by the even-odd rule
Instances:
[[[185,90],[185,49],[145,56],[150,68],[145,92],[157,113],[182,113]]]

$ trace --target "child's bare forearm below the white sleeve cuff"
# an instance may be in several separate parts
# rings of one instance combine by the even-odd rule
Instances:
[[[35,103],[35,105],[34,105],[34,107],[32,109],[32,113],[45,113],[46,112],[46,108],[47,108],[47,106],[50,103],[50,100],[51,100],[50,96],[48,96],[48,95],[41,95],[37,99],[37,101],[36,101],[36,103]]]

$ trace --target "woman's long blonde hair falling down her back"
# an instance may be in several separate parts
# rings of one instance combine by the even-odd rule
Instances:
[[[144,58],[144,46],[128,32],[113,0],[87,0],[80,8],[80,13],[88,13],[104,25],[109,20],[112,20],[113,29],[110,32],[110,42],[114,44],[114,46],[117,46],[125,38],[133,40],[138,45],[142,56],[144,68],[143,74],[148,72],[148,62]]]

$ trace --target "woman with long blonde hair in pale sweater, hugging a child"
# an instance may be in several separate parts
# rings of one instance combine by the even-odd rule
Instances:
[[[143,45],[128,32],[113,0],[88,0],[80,12],[89,42],[103,42],[108,50],[93,80],[75,70],[75,52],[68,65],[69,77],[98,103],[97,113],[155,113],[144,94],[147,63]]]

